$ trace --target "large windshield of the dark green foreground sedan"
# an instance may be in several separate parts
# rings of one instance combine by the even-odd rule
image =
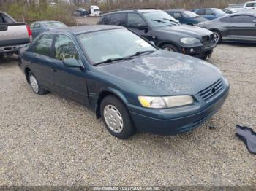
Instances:
[[[129,58],[138,52],[157,50],[125,28],[80,34],[78,39],[93,63]]]

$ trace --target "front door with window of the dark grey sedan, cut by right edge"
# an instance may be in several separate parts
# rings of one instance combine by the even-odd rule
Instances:
[[[231,17],[229,34],[231,39],[241,41],[256,41],[256,17],[251,15],[236,15]]]

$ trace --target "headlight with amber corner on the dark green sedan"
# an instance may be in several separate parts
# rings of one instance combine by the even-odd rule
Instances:
[[[147,108],[165,109],[176,106],[186,106],[194,103],[190,95],[178,95],[167,97],[138,96],[140,104]]]

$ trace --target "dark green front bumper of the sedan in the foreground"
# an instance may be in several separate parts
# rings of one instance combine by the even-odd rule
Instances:
[[[140,131],[150,132],[160,135],[177,135],[200,126],[203,122],[212,117],[221,109],[227,98],[230,87],[227,86],[211,103],[199,104],[197,106],[187,107],[184,111],[178,109],[169,109],[170,112],[154,110],[154,114],[148,116],[129,109],[130,115],[135,127]],[[132,111],[133,110],[133,111]]]

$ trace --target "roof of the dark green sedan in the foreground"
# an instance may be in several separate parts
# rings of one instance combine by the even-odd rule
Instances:
[[[90,33],[94,31],[106,31],[111,29],[118,29],[118,28],[124,28],[122,26],[108,26],[108,25],[94,25],[94,26],[72,26],[72,27],[66,27],[66,28],[58,28],[53,29],[51,32],[67,32],[70,34],[83,34],[83,33]]]

